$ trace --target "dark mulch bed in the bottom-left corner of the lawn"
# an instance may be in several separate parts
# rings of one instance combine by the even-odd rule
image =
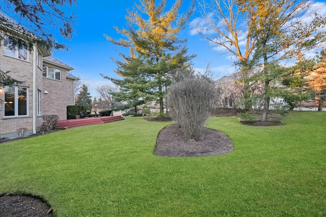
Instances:
[[[0,217],[52,216],[52,208],[40,197],[22,194],[0,195]]]

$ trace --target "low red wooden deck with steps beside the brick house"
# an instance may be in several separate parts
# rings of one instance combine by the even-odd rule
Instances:
[[[79,119],[59,120],[57,129],[69,129],[87,125],[98,125],[117,120],[124,120],[122,116],[105,116],[105,117],[84,117]]]

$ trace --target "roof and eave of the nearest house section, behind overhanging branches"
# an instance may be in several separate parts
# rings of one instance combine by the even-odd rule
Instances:
[[[28,40],[29,42],[42,41],[41,38],[31,32],[28,28],[25,28],[2,11],[0,11],[0,30],[4,30],[7,34],[10,33],[12,35],[17,35],[22,40]],[[51,50],[47,49],[44,45],[38,45],[38,48],[43,56],[51,55]]]

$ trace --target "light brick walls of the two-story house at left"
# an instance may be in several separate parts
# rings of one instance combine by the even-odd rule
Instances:
[[[3,41],[2,41],[3,43]],[[28,133],[33,133],[33,52],[29,52],[28,61],[6,56],[5,46],[0,46],[0,70],[7,72],[11,78],[22,81],[19,86],[28,87],[28,116],[5,117],[4,103],[0,101],[0,139],[3,137],[17,136],[18,128],[26,128]],[[42,65],[41,65],[42,66]],[[58,66],[53,66],[60,68]],[[66,78],[66,71],[62,69],[61,81],[47,79],[42,75],[42,69],[36,67],[36,89],[41,91],[41,114],[37,116],[36,95],[36,127],[43,123],[43,114],[57,114],[61,120],[67,119],[67,105],[73,105],[73,80]],[[0,99],[4,100],[4,87],[1,87]],[[36,90],[36,91],[37,91]],[[44,94],[44,90],[48,94]]]

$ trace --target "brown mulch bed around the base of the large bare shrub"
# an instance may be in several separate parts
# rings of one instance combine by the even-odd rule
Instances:
[[[185,140],[177,125],[162,129],[156,140],[154,154],[162,157],[200,157],[229,153],[233,144],[225,134],[205,128],[200,141]]]

